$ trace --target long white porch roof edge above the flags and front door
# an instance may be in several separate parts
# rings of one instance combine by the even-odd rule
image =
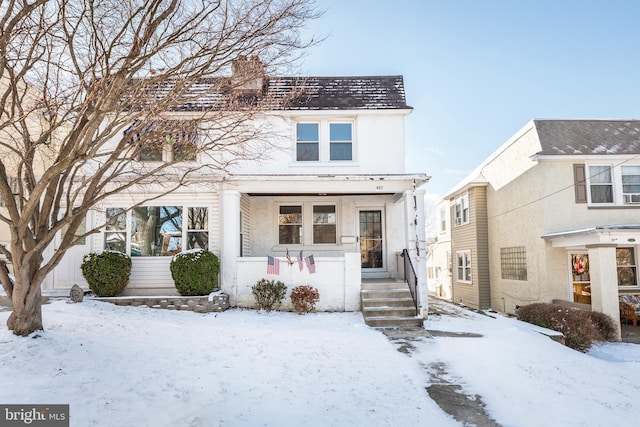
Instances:
[[[224,185],[256,196],[383,195],[413,190],[429,178],[425,174],[232,175],[225,178]]]

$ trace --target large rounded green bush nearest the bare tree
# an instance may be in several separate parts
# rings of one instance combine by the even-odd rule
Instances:
[[[129,283],[131,258],[122,252],[91,252],[82,259],[82,276],[99,297],[120,295]]]

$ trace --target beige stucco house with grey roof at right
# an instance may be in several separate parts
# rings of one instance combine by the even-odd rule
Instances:
[[[456,302],[617,321],[619,296],[640,293],[640,121],[532,120],[445,198]]]

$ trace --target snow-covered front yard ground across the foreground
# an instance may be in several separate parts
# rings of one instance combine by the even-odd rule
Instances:
[[[360,313],[92,300],[43,313],[37,338],[0,328],[0,403],[70,404],[74,427],[460,425],[425,390],[439,362],[503,426],[621,425],[640,413],[640,345],[582,354],[500,315],[431,316],[427,329],[483,337],[421,340],[404,354]]]

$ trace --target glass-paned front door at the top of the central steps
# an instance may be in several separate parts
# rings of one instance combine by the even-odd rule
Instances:
[[[382,271],[386,267],[382,210],[361,210],[359,218],[361,266],[368,271]]]

